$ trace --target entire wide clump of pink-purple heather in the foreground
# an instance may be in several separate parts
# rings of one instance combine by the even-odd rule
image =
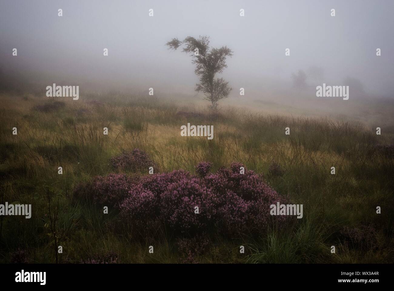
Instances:
[[[202,237],[207,231],[232,238],[253,236],[264,234],[269,223],[284,227],[289,218],[270,217],[269,206],[286,198],[261,175],[239,162],[208,174],[211,166],[198,163],[199,176],[183,170],[135,180],[125,174],[96,176],[78,184],[73,195],[119,210],[135,237],[154,237],[157,227],[180,238]]]

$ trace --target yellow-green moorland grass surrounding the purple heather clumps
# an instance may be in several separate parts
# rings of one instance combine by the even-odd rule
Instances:
[[[63,246],[60,263],[108,252],[117,253],[120,263],[183,262],[177,238],[167,237],[165,229],[158,230],[157,241],[137,241],[126,226],[120,226],[116,212],[104,215],[93,205],[71,202],[78,182],[113,172],[110,157],[133,148],[145,150],[161,171],[194,172],[199,161],[212,162],[216,171],[241,161],[263,174],[292,203],[304,205],[303,219],[286,229],[268,229],[264,237],[210,238],[208,250],[197,257],[199,262],[394,261],[394,163],[392,157],[375,150],[375,145],[393,144],[393,133],[376,135],[356,122],[260,115],[234,108],[212,116],[194,107],[178,109],[173,101],[124,94],[89,94],[78,101],[65,100],[65,106],[47,112],[35,109],[48,103],[44,98],[3,94],[0,99],[2,201],[32,204],[33,209],[31,219],[2,216],[0,262],[10,262],[20,248],[31,263],[54,263],[53,237],[46,226],[47,192],[52,207],[59,208],[55,232]],[[214,139],[181,137],[180,126],[187,122],[213,125]],[[17,135],[12,135],[13,127]],[[103,134],[104,127],[108,135]],[[286,127],[290,135],[284,134]],[[283,176],[268,175],[273,161],[284,169]],[[58,175],[59,166],[63,175]],[[335,175],[330,174],[331,167]],[[376,214],[377,206],[381,214]],[[346,245],[339,235],[346,225],[373,225],[376,247]],[[154,245],[154,256],[148,252],[150,245]],[[241,245],[245,254],[239,253]],[[336,246],[335,254],[331,246]]]

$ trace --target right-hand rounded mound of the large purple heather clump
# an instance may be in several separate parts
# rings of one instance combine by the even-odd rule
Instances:
[[[240,174],[240,167],[244,165],[232,163],[230,169],[221,168],[206,177],[208,188],[215,193],[209,196],[207,205],[223,233],[233,235],[244,230],[261,233],[270,219],[269,206],[286,200],[261,175],[247,169],[245,174]],[[275,217],[279,223],[286,219],[286,216]]]

